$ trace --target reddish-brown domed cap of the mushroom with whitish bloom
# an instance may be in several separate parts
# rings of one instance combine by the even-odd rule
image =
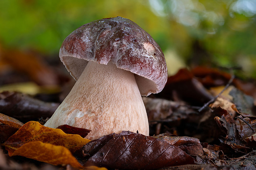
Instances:
[[[89,61],[134,73],[142,96],[158,93],[167,81],[164,53],[154,39],[129,19],[104,18],[74,30],[62,43],[60,60],[75,80]]]

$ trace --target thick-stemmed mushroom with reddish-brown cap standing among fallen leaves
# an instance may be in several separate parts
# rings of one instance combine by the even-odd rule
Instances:
[[[141,95],[164,88],[167,67],[145,30],[122,17],[93,21],[66,37],[59,57],[76,83],[45,126],[90,129],[90,140],[121,131],[149,135]]]

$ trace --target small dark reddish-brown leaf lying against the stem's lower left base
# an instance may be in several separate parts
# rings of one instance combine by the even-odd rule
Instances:
[[[67,124],[60,125],[56,129],[61,129],[62,131],[64,131],[64,133],[67,134],[80,135],[82,138],[85,138],[91,131],[84,128],[69,126]]]

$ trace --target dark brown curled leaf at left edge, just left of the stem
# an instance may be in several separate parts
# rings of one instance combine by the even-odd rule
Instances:
[[[51,117],[59,103],[46,103],[18,92],[0,93],[0,113],[21,122]]]

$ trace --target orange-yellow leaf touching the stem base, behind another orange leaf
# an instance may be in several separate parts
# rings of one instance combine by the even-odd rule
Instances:
[[[35,141],[63,146],[69,149],[71,153],[76,152],[76,150],[90,142],[90,140],[84,139],[79,135],[66,134],[60,129],[45,127],[38,122],[31,121],[24,124],[2,145],[9,149],[17,150],[22,145]],[[10,150],[9,154],[12,154]]]

